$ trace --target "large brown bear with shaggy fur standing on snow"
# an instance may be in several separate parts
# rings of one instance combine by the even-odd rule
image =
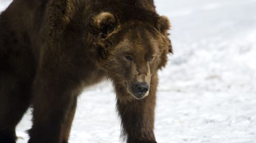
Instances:
[[[127,142],[156,142],[169,28],[153,0],[14,0],[0,15],[0,142],[15,142],[28,107],[28,142],[68,142],[77,96],[104,79],[115,88]]]

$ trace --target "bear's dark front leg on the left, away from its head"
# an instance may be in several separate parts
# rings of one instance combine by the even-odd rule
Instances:
[[[67,142],[80,80],[65,63],[43,61],[33,86],[32,128],[29,143]],[[72,71],[72,69],[71,69]]]

